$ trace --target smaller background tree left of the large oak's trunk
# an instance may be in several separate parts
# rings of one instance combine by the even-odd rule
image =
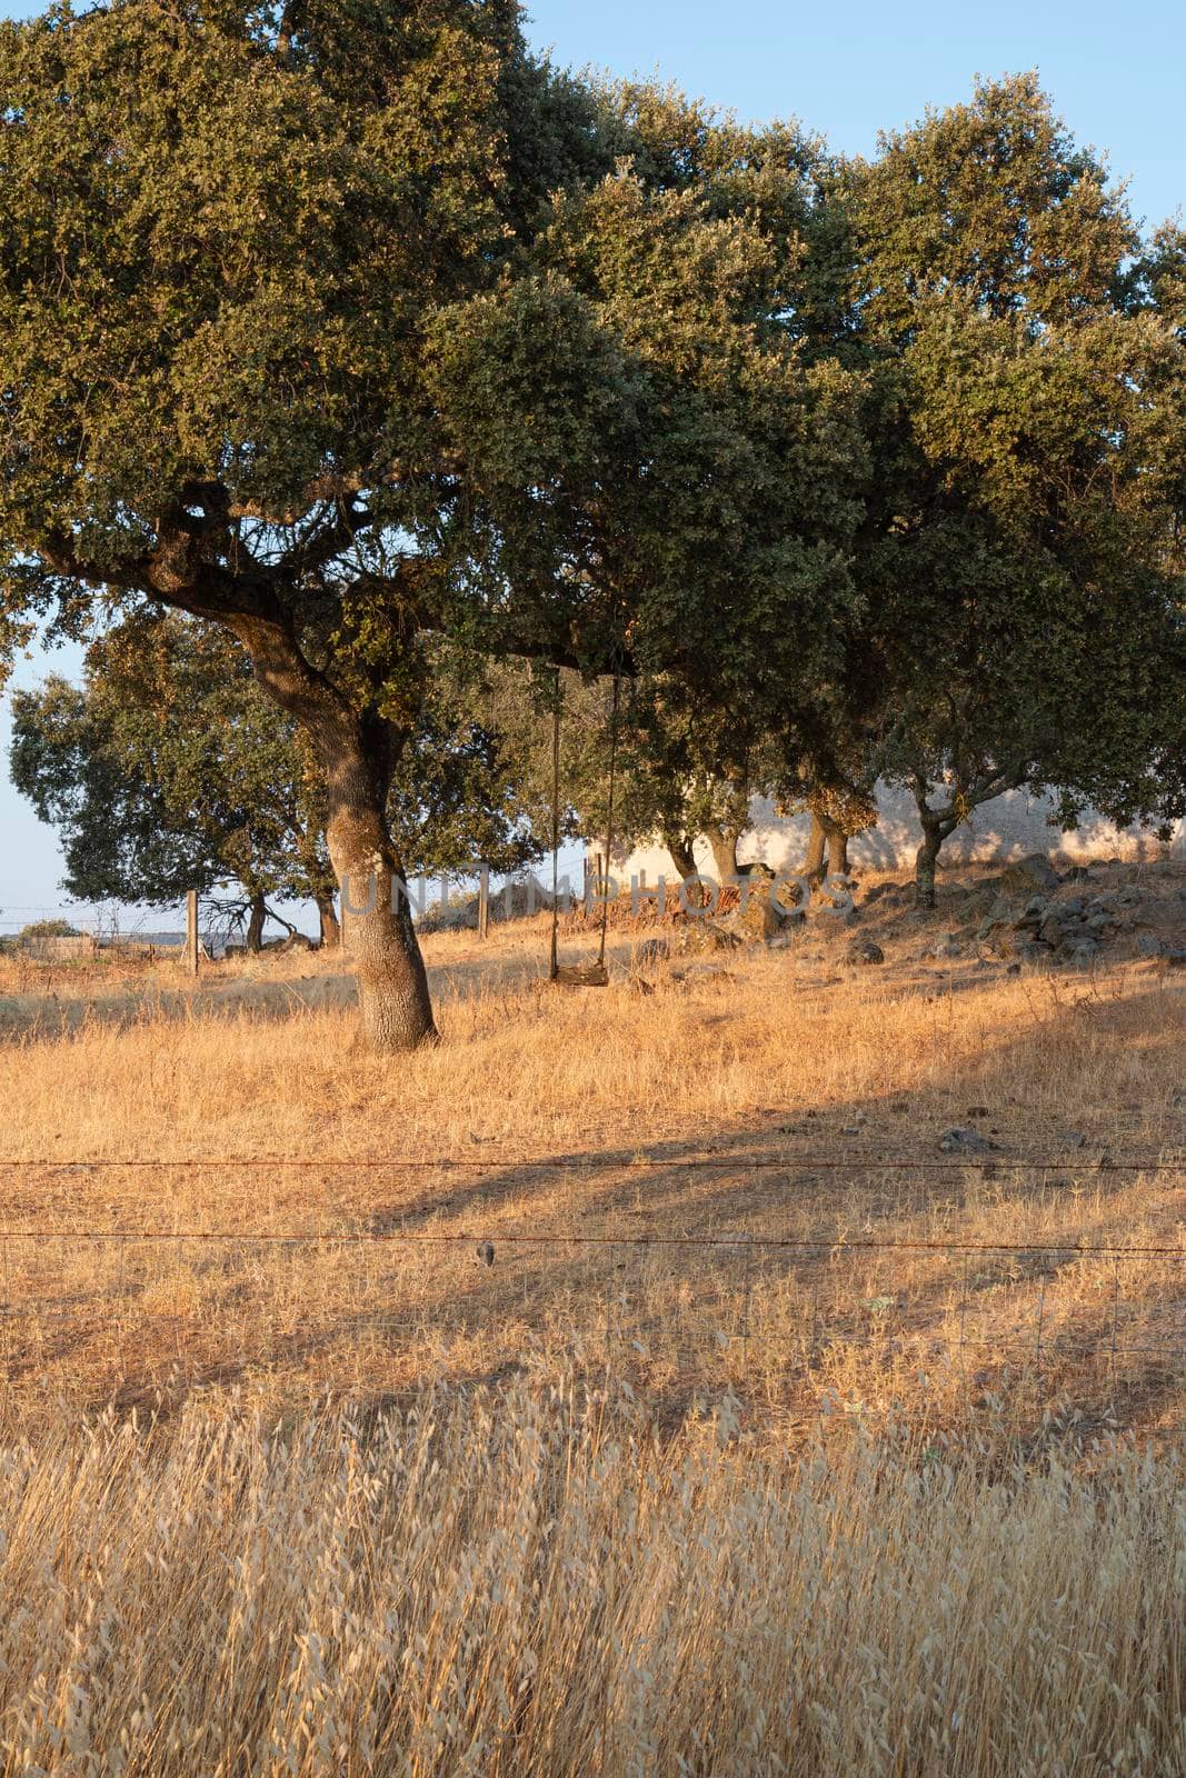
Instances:
[[[126,617],[87,649],[82,686],[16,693],[11,773],[62,834],[71,896],[169,905],[238,882],[249,949],[267,898],[313,900],[338,941],[320,775],[231,638]]]

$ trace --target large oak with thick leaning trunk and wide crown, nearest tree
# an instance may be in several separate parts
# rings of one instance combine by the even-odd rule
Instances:
[[[437,637],[722,697],[834,647],[804,144],[594,100],[512,0],[62,5],[0,94],[4,638],[108,596],[229,629],[325,781],[368,1035],[423,1042],[388,795]]]

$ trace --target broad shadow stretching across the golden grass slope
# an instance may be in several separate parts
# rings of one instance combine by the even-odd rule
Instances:
[[[1118,1040],[1181,1042],[1181,997],[1152,983],[1085,1015]],[[1053,1149],[1026,1106],[1003,1104],[1010,1051],[1003,1038],[957,1069],[955,1111],[926,1117],[902,1093],[827,1117],[772,1106],[699,1140],[441,1161],[405,1173],[407,1191],[386,1184],[393,1165],[324,1245],[187,1259],[204,1305],[190,1317],[151,1261],[117,1296],[96,1273],[53,1300],[46,1275],[57,1321],[36,1339],[7,1303],[7,1380],[20,1392],[73,1367],[130,1403],[160,1392],[162,1369],[178,1401],[267,1373],[293,1399],[311,1382],[397,1399],[425,1378],[573,1371],[621,1376],[663,1417],[733,1390],[788,1421],[898,1401],[946,1424],[990,1399],[1015,1399],[1026,1424],[1067,1405],[1092,1426],[1108,1410],[1177,1421],[1186,1108],[1134,1127],[1101,1109],[1083,1147]],[[973,1097],[996,1147],[944,1156],[942,1122]],[[1133,1245],[1170,1252],[1092,1252]],[[162,1277],[169,1264],[162,1236]]]

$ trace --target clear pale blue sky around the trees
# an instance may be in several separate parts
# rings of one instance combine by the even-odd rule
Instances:
[[[28,11],[0,0],[0,16]],[[1182,0],[532,0],[528,30],[560,62],[660,75],[745,119],[795,116],[848,153],[966,98],[976,73],[1037,68],[1074,135],[1129,181],[1140,217],[1156,224],[1186,208]],[[43,660],[23,663],[21,679],[43,670]],[[0,763],[0,930],[57,907],[59,875],[52,832]]]

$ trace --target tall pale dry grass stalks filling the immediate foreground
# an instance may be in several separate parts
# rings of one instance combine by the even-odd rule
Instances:
[[[731,1415],[519,1385],[7,1446],[0,1771],[1186,1769],[1179,1462],[793,1458]]]

